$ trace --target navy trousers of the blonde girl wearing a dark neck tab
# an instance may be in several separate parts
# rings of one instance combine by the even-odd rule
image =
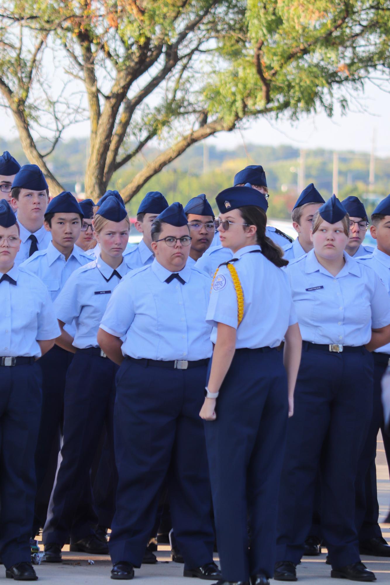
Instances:
[[[82,498],[86,492],[91,494],[89,470],[104,425],[108,435],[113,436],[117,370],[118,366],[108,358],[83,352],[75,354],[68,369],[63,444],[43,529],[45,545],[63,546],[70,534],[73,541],[94,534],[89,516],[81,513]],[[97,524],[96,517],[94,524]]]

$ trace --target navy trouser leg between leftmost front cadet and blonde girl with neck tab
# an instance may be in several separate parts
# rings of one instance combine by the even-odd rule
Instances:
[[[72,358],[73,353],[54,345],[39,360],[42,369],[42,416],[35,452],[37,495],[32,538],[35,538],[46,522],[47,507],[61,448],[65,379]]]

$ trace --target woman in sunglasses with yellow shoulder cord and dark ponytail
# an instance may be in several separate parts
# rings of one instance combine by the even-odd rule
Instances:
[[[220,240],[233,259],[213,280],[206,320],[215,347],[200,414],[221,583],[266,585],[274,569],[278,488],[301,335],[281,270],[287,261],[265,236],[264,195],[232,187],[216,202]]]

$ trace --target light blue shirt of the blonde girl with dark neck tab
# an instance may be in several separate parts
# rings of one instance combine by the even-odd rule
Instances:
[[[129,272],[122,264],[115,269],[121,277]],[[63,290],[54,302],[57,319],[70,325],[75,324],[74,347],[98,347],[96,339],[102,316],[112,291],[120,282],[101,256],[81,266],[68,278]]]

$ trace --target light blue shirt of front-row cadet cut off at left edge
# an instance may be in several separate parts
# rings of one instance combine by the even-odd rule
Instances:
[[[37,343],[60,335],[53,303],[42,281],[16,264],[8,271],[16,285],[0,283],[0,356],[40,357]],[[0,277],[2,274],[0,274]]]

